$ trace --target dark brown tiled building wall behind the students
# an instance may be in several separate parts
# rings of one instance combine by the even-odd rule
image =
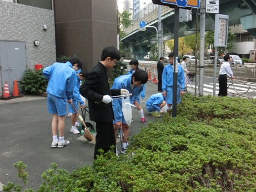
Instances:
[[[101,60],[104,47],[117,47],[117,1],[70,2],[54,0],[57,57],[76,54],[84,69],[91,70]]]

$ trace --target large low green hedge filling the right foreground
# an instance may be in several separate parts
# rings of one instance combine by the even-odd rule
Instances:
[[[255,114],[254,99],[186,94],[177,117],[131,138],[128,155],[72,174],[53,164],[35,191],[256,191]]]

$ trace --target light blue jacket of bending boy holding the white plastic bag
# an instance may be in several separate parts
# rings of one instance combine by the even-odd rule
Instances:
[[[129,93],[132,93],[130,95],[130,102],[132,100],[136,100],[139,103],[139,95],[143,90],[143,87],[133,87],[131,88],[131,80],[132,75],[121,75],[120,77],[116,78],[114,80],[113,86],[111,89],[127,89]],[[122,121],[122,98],[114,99],[112,102],[112,107],[114,111],[114,118],[117,122]]]

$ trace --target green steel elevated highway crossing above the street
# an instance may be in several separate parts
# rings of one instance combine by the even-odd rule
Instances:
[[[159,3],[160,0],[152,0]],[[167,4],[168,5],[168,4]],[[200,10],[198,10],[200,13]],[[179,23],[179,37],[188,36],[195,33],[197,10],[192,8],[192,21]],[[255,0],[219,0],[219,14],[229,16],[229,26],[242,24],[243,29],[256,38],[256,1]],[[198,14],[198,31],[200,29],[200,14]],[[163,37],[162,40],[168,41],[174,38],[174,9],[162,14]],[[205,13],[205,31],[213,31],[215,22],[214,13]],[[154,18],[147,23],[147,26],[158,28],[158,18]],[[158,42],[156,30],[146,28],[146,31],[139,31],[139,27],[134,28],[121,39],[125,52],[133,52],[135,55],[144,56],[149,51],[149,45]]]

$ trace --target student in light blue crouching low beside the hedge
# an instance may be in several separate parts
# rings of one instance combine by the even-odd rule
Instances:
[[[158,111],[164,113],[162,108],[165,105],[165,97],[162,93],[156,93],[151,95],[145,103],[148,112]]]

